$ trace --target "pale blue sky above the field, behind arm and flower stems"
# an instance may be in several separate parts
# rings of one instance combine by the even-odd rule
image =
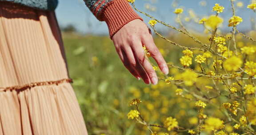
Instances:
[[[156,1],[156,2],[155,2]],[[188,10],[193,9],[198,18],[202,16],[209,16],[214,14],[212,12],[212,7],[215,3],[223,5],[225,7],[224,12],[220,14],[224,18],[223,28],[228,29],[226,26],[228,24],[228,18],[232,16],[231,4],[229,0],[136,0],[136,7],[142,11],[146,11],[149,14],[155,16],[156,18],[167,22],[168,24],[178,26],[175,23],[176,15],[173,13],[175,10],[172,7],[172,3],[176,1],[176,8],[184,8],[183,17],[188,16]],[[206,1],[207,5],[205,7],[200,5],[201,1]],[[236,0],[235,5],[238,2],[244,3],[244,8],[236,8],[236,14],[243,18],[243,24],[239,25],[239,29],[250,29],[251,22],[250,19],[256,18],[256,13],[252,10],[246,8],[250,4],[250,0]],[[147,11],[145,4],[150,4],[156,7],[156,12]],[[138,13],[144,21],[148,22],[148,17]],[[107,25],[104,22],[99,22],[92,13],[88,10],[83,0],[59,0],[59,5],[56,9],[56,16],[61,26],[67,24],[74,24],[76,28],[83,33],[93,33],[93,34],[108,34]],[[185,23],[185,22],[184,22]],[[188,27],[193,26],[193,28],[202,29],[200,25],[196,23],[189,22]],[[161,28],[161,26],[157,26]]]

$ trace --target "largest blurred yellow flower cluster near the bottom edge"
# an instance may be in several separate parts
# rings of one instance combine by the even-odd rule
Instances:
[[[224,122],[219,118],[209,117],[208,119],[205,119],[204,127],[205,129],[211,130],[211,131],[219,130],[224,127],[223,123]]]

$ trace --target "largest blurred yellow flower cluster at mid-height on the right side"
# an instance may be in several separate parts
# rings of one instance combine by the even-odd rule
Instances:
[[[243,62],[240,60],[240,58],[232,56],[224,62],[223,66],[227,71],[236,71],[242,64]]]

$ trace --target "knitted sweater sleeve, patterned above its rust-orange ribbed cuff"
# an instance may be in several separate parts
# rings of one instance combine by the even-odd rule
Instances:
[[[84,2],[98,20],[107,23],[111,39],[125,24],[135,19],[142,20],[127,0],[84,0]]]

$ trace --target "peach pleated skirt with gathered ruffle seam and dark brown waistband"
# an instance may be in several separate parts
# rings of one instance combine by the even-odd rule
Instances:
[[[0,135],[87,135],[54,12],[0,2]]]

